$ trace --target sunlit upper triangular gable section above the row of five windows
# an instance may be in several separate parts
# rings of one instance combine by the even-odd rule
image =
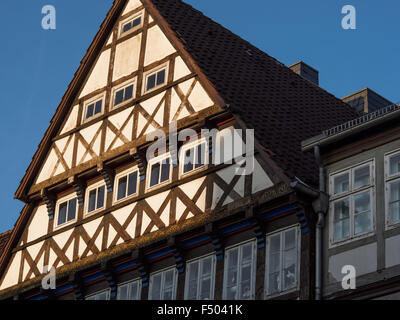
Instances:
[[[141,17],[141,26],[121,34],[123,24],[135,17]],[[166,68],[166,90],[146,92],[146,77],[160,66]],[[129,82],[133,84],[134,101],[114,109],[116,92]],[[85,119],[90,104],[100,99],[102,114]],[[107,152],[129,150],[135,139],[167,127],[171,121],[179,123],[208,108],[220,110],[224,104],[150,0],[115,1],[16,197],[23,199],[32,185],[36,186],[31,193],[40,191],[48,186],[49,179],[52,183],[65,180],[71,170],[76,174],[81,165],[87,169],[98,157],[107,158]],[[126,112],[129,107],[131,112]]]

